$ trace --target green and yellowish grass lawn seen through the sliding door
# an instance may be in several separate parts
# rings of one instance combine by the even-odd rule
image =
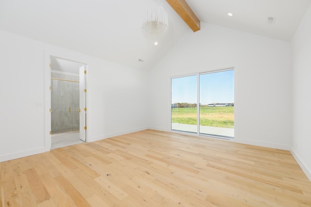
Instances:
[[[172,123],[197,124],[197,108],[172,109]],[[201,107],[200,126],[234,128],[234,107]]]

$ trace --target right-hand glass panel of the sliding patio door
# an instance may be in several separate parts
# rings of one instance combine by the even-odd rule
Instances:
[[[199,75],[200,134],[234,137],[234,70]]]

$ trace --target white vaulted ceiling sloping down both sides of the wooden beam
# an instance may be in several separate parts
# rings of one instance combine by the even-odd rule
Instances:
[[[157,46],[140,32],[142,12],[153,0],[0,0],[0,30],[147,70],[191,31],[165,0],[157,1],[168,12],[170,24],[168,35]],[[311,2],[186,1],[201,22],[287,42]],[[233,16],[227,16],[228,12]],[[268,23],[269,16],[274,17],[273,24]]]

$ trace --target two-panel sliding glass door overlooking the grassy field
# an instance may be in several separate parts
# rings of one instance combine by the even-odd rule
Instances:
[[[232,68],[171,80],[172,130],[234,137]]]

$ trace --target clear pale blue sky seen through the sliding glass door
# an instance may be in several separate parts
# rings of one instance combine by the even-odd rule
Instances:
[[[200,103],[233,103],[234,70],[201,74]],[[197,76],[172,79],[172,103],[197,102]]]

